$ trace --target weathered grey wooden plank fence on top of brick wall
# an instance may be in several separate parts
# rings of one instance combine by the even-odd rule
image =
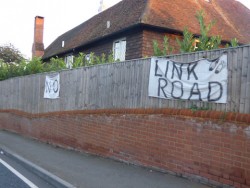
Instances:
[[[148,97],[150,58],[60,71],[60,98],[44,99],[43,73],[0,82],[0,109],[45,113],[85,109],[191,108],[250,113],[250,46],[169,58],[190,62],[228,53],[228,102],[216,104]]]

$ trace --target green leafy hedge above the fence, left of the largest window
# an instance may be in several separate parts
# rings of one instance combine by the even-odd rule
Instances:
[[[94,53],[91,53],[89,56],[87,56],[84,53],[79,53],[74,57],[72,67],[78,68],[112,62],[115,62],[112,53],[110,53],[108,56],[105,54],[96,56]],[[66,69],[66,63],[63,58],[58,57],[51,58],[49,62],[43,62],[41,58],[37,57],[29,61],[22,60],[19,63],[6,63],[0,59],[0,81],[17,76],[60,71],[63,69]]]

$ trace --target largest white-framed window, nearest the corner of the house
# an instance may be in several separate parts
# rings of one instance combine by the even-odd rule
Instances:
[[[116,40],[113,46],[115,60],[124,61],[126,57],[126,39]]]

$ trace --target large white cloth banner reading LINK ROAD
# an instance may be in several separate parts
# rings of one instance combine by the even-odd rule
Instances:
[[[164,99],[227,102],[227,54],[190,63],[152,58],[148,94]]]

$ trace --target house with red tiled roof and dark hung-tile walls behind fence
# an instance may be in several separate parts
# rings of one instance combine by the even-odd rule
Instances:
[[[199,35],[198,10],[205,11],[206,21],[216,20],[210,34],[221,35],[222,42],[237,38],[240,44],[250,43],[250,10],[238,1],[123,0],[59,36],[42,58],[72,59],[79,52],[113,52],[121,61],[142,58],[153,55],[152,41],[162,43],[164,35],[177,49],[176,37],[186,26]]]

